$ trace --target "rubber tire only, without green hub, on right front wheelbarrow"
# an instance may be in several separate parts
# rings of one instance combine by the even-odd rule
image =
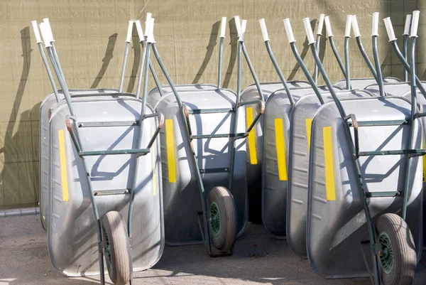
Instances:
[[[387,213],[381,215],[376,222],[376,231],[377,237],[380,232],[388,234],[393,249],[393,269],[391,273],[387,274],[382,269],[378,259],[378,270],[383,284],[413,284],[417,267],[417,255],[413,235],[405,220],[396,214]]]

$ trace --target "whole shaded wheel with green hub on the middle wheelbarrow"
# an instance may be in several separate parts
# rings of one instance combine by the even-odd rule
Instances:
[[[236,241],[236,205],[228,189],[217,186],[207,196],[210,238],[219,251],[229,251]]]

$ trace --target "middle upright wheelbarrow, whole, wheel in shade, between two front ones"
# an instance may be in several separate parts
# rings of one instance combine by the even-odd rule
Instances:
[[[222,18],[221,42],[225,21],[226,18]],[[155,110],[165,114],[165,129],[160,132],[160,139],[164,148],[166,242],[171,245],[204,242],[210,256],[232,254],[236,237],[244,232],[247,222],[245,138],[260,115],[246,129],[241,107],[264,103],[263,100],[240,100],[245,26],[244,20],[239,39],[236,93],[220,87],[220,76],[217,87],[212,89],[209,85],[207,88],[202,85],[201,90],[189,85],[175,87],[155,43],[148,45],[173,90],[163,92],[162,97],[154,95],[148,99]],[[164,90],[160,86],[156,89],[153,92]],[[200,194],[194,192],[196,188],[200,190],[201,203]]]

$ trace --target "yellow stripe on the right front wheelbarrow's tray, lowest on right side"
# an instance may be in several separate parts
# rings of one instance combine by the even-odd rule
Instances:
[[[332,143],[332,127],[322,129],[324,141],[324,164],[325,164],[325,190],[327,200],[336,200],[336,188],[334,185],[334,159]]]

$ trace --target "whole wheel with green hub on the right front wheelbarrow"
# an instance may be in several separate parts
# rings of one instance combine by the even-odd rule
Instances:
[[[413,235],[402,217],[384,214],[378,217],[377,258],[384,285],[413,284],[417,257]]]

